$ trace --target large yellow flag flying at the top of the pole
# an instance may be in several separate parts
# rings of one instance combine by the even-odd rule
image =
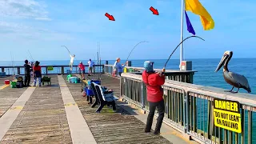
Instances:
[[[214,28],[214,20],[198,0],[186,0],[186,10],[200,16],[203,30]]]

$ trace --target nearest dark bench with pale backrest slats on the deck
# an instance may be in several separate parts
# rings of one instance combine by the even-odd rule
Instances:
[[[98,109],[96,110],[96,113],[100,113],[102,108],[106,105],[112,105],[113,110],[116,110],[116,98],[114,98],[113,92],[112,94],[108,92],[103,92],[102,86],[94,83],[95,90],[98,95],[98,101],[99,101],[99,106]]]

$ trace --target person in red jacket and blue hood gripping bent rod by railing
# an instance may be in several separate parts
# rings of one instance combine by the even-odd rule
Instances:
[[[154,118],[154,111],[158,108],[158,122],[155,126],[154,134],[160,134],[162,119],[165,112],[165,103],[162,98],[163,90],[161,87],[165,83],[165,69],[162,69],[162,72],[160,73],[155,73],[153,64],[154,62],[150,61],[144,62],[145,70],[142,73],[142,80],[146,84],[147,101],[150,104],[150,113],[147,117],[145,132],[150,132]]]

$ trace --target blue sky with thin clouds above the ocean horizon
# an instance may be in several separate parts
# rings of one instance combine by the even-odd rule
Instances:
[[[200,18],[187,12],[196,35],[184,42],[184,58],[255,58],[255,0],[201,0],[214,19],[213,30],[203,30]],[[150,11],[150,6],[159,15]],[[113,15],[110,21],[105,14]],[[180,0],[0,0],[0,61],[30,58],[67,60],[69,48],[77,59],[100,57],[166,59],[181,40]],[[186,30],[184,38],[191,34]],[[179,58],[179,49],[174,59]]]

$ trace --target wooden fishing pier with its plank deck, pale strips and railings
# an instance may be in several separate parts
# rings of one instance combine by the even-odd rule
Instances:
[[[149,107],[143,68],[126,66],[125,73],[116,78],[111,75],[112,65],[94,66],[94,75],[88,78],[97,79],[100,73],[101,85],[114,90],[118,98],[117,110],[104,106],[99,114],[95,113],[98,106],[92,108],[82,96],[83,83],[66,81],[68,69],[42,66],[42,73],[51,78],[50,86],[10,88],[4,80],[13,78],[11,70],[24,74],[23,67],[0,66],[6,73],[0,78],[0,143],[256,142],[255,95],[194,85],[196,71],[166,70],[164,124],[161,134],[154,135],[144,133]],[[77,66],[73,73],[80,77]]]

